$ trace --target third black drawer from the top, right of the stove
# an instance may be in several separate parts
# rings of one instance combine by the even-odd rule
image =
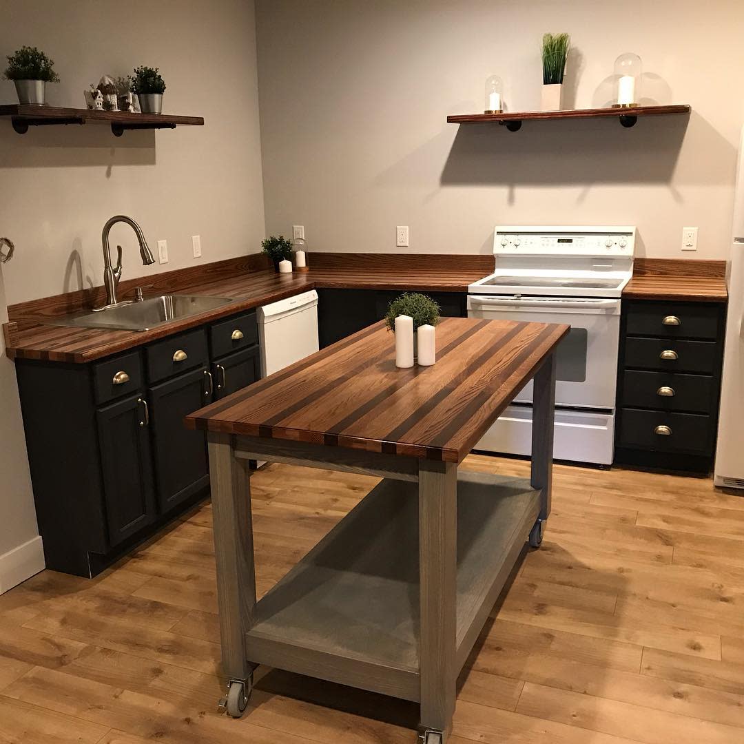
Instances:
[[[713,413],[713,378],[670,372],[626,371],[622,405]]]

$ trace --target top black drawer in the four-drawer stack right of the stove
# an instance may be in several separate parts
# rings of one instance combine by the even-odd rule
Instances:
[[[669,339],[711,339],[718,336],[718,305],[684,302],[631,302],[627,307],[629,336]]]

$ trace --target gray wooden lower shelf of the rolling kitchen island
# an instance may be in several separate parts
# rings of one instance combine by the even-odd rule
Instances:
[[[527,478],[458,473],[456,670],[540,507]],[[382,480],[255,606],[254,664],[419,701],[417,484]]]

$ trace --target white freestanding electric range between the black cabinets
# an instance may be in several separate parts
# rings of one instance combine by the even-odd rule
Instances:
[[[557,350],[554,457],[612,464],[620,295],[633,227],[497,227],[496,270],[468,287],[470,318],[567,323]],[[530,455],[532,383],[475,449]]]

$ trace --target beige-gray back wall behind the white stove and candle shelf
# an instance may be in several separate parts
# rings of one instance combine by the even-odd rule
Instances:
[[[728,255],[741,3],[257,0],[257,28],[269,232],[388,252],[409,225],[411,251],[488,253],[497,223],[630,224],[640,254]],[[544,31],[572,36],[568,107],[610,103],[615,57],[635,51],[641,102],[690,103],[689,125],[446,124],[484,108],[490,74],[508,109],[539,108]],[[683,226],[697,253],[680,251]]]

